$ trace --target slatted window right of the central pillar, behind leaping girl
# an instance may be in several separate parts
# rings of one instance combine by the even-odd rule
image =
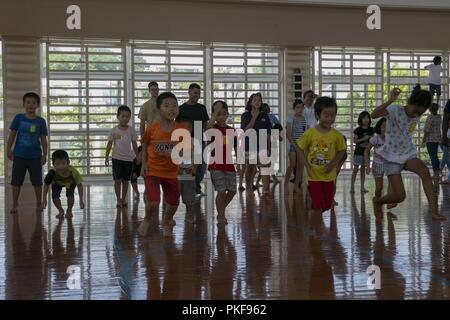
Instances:
[[[393,87],[402,90],[400,104],[406,103],[415,85],[420,83],[428,89],[428,71],[424,67],[432,63],[436,55],[443,57],[445,68],[442,75],[442,105],[448,97],[447,52],[348,47],[315,49],[317,89],[320,95],[330,95],[337,100],[336,127],[348,138],[349,154],[353,154],[352,132],[358,126],[359,113],[372,111],[387,98]],[[426,116],[421,118],[414,132],[414,142],[421,158],[429,162],[426,150],[420,147],[425,119]],[[351,163],[352,157],[349,157],[345,168],[351,168]]]

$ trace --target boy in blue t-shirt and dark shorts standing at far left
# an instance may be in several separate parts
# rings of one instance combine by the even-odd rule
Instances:
[[[42,166],[47,162],[47,124],[36,115],[41,102],[38,94],[28,92],[22,100],[25,113],[14,117],[6,146],[8,159],[13,161],[13,206],[10,213],[17,213],[20,188],[27,170],[36,195],[36,209],[42,211]]]

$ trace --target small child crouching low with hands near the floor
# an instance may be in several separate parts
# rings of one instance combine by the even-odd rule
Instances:
[[[67,211],[66,218],[72,218],[72,208],[75,202],[75,187],[78,189],[80,197],[80,208],[84,209],[83,201],[83,179],[77,169],[70,165],[69,155],[64,150],[56,150],[52,153],[53,168],[45,176],[44,195],[42,197],[42,206],[47,206],[47,194],[52,186],[52,200],[58,214],[56,218],[64,218],[64,209],[61,205],[60,195],[63,188],[66,188]]]

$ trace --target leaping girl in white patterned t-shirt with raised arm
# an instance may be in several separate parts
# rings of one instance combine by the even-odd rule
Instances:
[[[431,93],[416,86],[406,106],[391,105],[399,95],[400,90],[394,88],[390,93],[389,100],[372,112],[373,118],[386,118],[386,140],[378,154],[386,160],[384,172],[388,176],[391,187],[390,192],[385,196],[373,198],[375,211],[379,212],[383,204],[401,203],[405,200],[406,194],[401,172],[408,170],[419,175],[422,180],[433,219],[445,219],[438,211],[430,172],[418,158],[417,149],[411,136],[420,116],[431,105]]]

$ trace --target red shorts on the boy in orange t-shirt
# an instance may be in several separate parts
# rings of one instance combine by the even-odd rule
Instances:
[[[155,176],[146,176],[145,192],[149,202],[158,202],[160,200],[159,186],[163,189],[164,202],[171,206],[178,206],[180,203],[180,188],[177,179],[160,178]]]

